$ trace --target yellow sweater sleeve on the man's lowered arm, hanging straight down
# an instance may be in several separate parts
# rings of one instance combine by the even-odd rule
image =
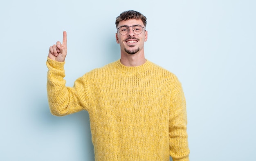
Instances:
[[[170,155],[173,161],[189,161],[186,101],[177,77],[173,83],[169,122]]]

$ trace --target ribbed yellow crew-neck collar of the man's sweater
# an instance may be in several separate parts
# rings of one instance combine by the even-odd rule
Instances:
[[[150,68],[150,66],[152,66],[152,62],[146,60],[146,63],[144,63],[140,66],[124,66],[123,64],[121,64],[120,60],[117,60],[115,62],[115,66],[119,70],[127,72],[127,73],[142,73],[144,71],[147,71]]]

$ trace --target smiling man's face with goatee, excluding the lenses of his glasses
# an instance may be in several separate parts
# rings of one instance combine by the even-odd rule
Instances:
[[[117,28],[120,26],[135,26],[141,25],[145,28],[141,20],[131,19],[120,21]],[[121,53],[135,54],[139,51],[144,51],[144,42],[148,39],[148,32],[143,29],[142,33],[137,35],[133,32],[132,27],[129,27],[129,32],[126,35],[116,33],[117,43],[120,44]]]

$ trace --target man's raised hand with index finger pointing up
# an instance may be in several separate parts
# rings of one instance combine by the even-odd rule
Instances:
[[[63,41],[56,42],[53,46],[50,46],[48,57],[57,62],[64,62],[67,55],[67,32],[63,31]]]

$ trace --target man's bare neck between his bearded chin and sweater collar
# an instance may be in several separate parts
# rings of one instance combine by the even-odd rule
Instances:
[[[124,66],[141,66],[146,62],[144,51],[135,54],[128,54],[121,51],[121,64]]]

